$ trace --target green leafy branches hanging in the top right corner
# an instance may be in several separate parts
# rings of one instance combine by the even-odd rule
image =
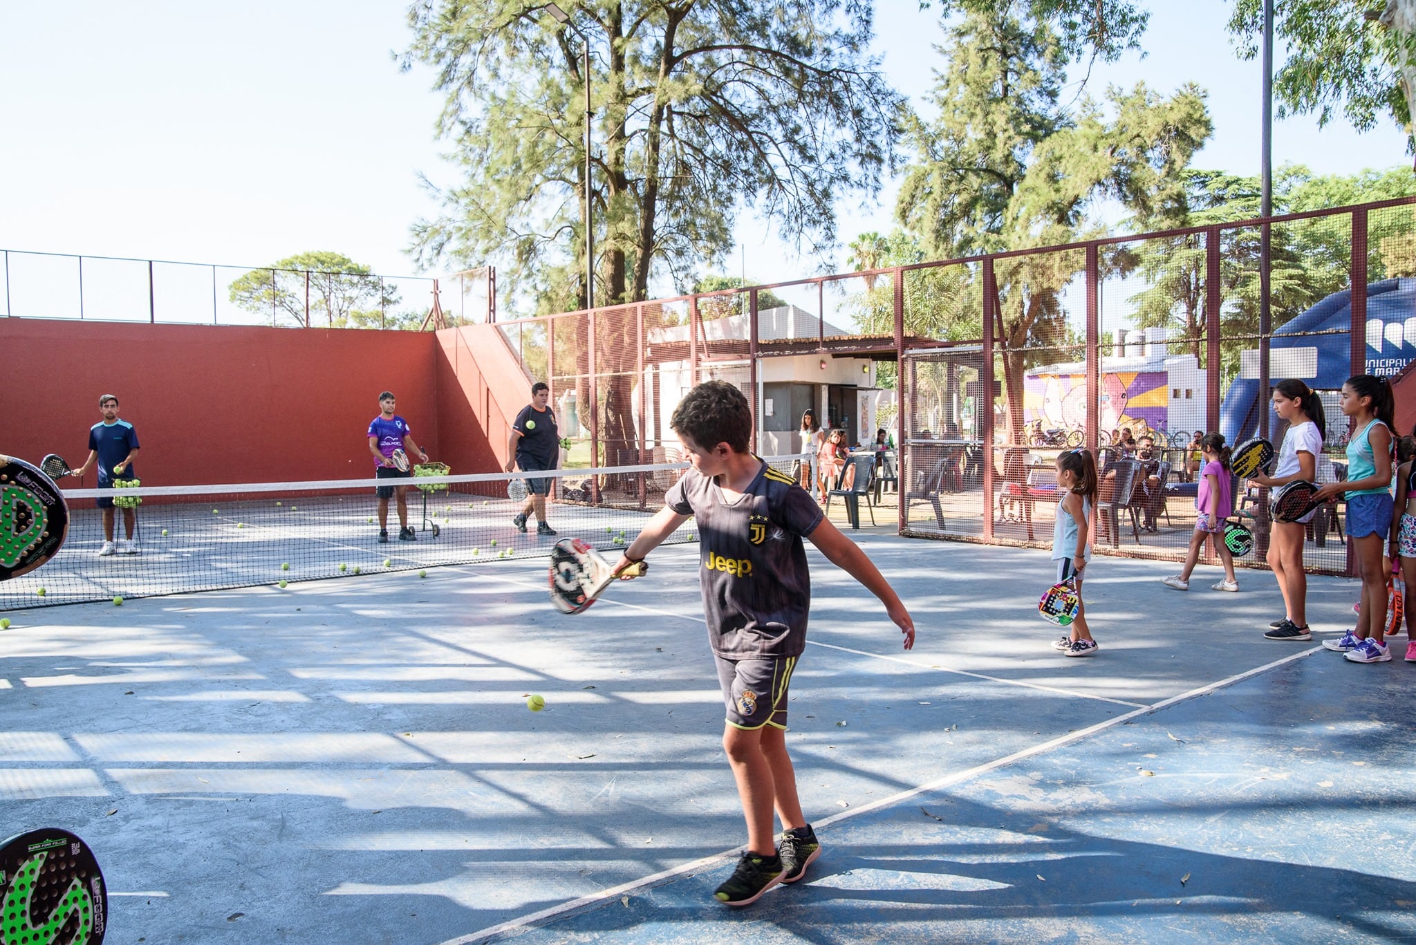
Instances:
[[[1263,0],[1231,0],[1229,31],[1239,55],[1253,58],[1263,38]],[[1416,37],[1368,18],[1379,0],[1280,0],[1274,45],[1289,58],[1274,74],[1280,115],[1318,116],[1327,125],[1341,109],[1359,132],[1391,119],[1409,128],[1402,67],[1416,62]]]

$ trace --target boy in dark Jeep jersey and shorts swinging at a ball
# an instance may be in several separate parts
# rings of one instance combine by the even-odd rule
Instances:
[[[787,684],[806,647],[811,601],[801,538],[885,604],[905,649],[915,645],[915,625],[871,560],[821,516],[810,493],[748,452],[752,409],[742,391],[726,381],[700,384],[674,409],[670,426],[692,468],[615,570],[643,561],[694,516],[708,640],[728,708],[722,744],[748,820],[746,853],[714,895],[748,905],[777,883],[800,880],[821,853],[801,815],[786,748]],[[782,820],[776,839],[773,809]]]

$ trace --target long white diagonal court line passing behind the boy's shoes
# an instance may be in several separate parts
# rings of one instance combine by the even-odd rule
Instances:
[[[1123,715],[1117,715],[1114,718],[1107,718],[1107,720],[1100,721],[1100,723],[1097,723],[1095,725],[1090,725],[1087,728],[1080,728],[1078,731],[1068,732],[1066,735],[1059,735],[1058,738],[1052,738],[1049,741],[1044,741],[1044,742],[1037,744],[1037,745],[1034,745],[1031,748],[1024,748],[1022,751],[1015,751],[1011,755],[1005,755],[1003,758],[997,758],[994,761],[990,761],[990,762],[986,762],[986,764],[981,764],[981,765],[976,765],[976,766],[969,768],[966,771],[959,771],[959,772],[954,772],[952,775],[944,775],[942,778],[936,778],[935,781],[922,783],[918,788],[909,788],[906,791],[901,791],[899,793],[891,795],[889,798],[881,798],[879,800],[872,800],[871,803],[862,805],[862,806],[855,808],[852,810],[843,810],[841,813],[837,813],[837,815],[833,815],[830,817],[826,817],[824,820],[817,820],[816,826],[826,829],[826,827],[828,827],[828,826],[831,826],[834,823],[840,823],[841,820],[848,820],[851,817],[858,817],[862,813],[869,813],[871,810],[879,810],[881,808],[885,808],[885,806],[889,806],[889,805],[895,805],[895,803],[899,803],[902,800],[908,800],[908,799],[919,796],[922,793],[929,793],[932,791],[939,791],[940,788],[949,788],[952,785],[960,783],[963,781],[969,781],[971,778],[976,778],[976,776],[978,776],[981,774],[987,774],[987,772],[994,771],[997,768],[1004,768],[1004,766],[1011,765],[1011,764],[1014,764],[1017,761],[1022,761],[1022,759],[1031,758],[1034,755],[1041,755],[1041,754],[1044,754],[1046,751],[1051,751],[1054,748],[1059,748],[1059,747],[1070,744],[1073,741],[1080,741],[1082,738],[1087,738],[1087,737],[1095,735],[1095,734],[1097,734],[1100,731],[1104,731],[1107,728],[1113,728],[1116,725],[1123,725],[1123,724],[1129,723],[1133,718],[1138,718],[1141,715],[1151,715],[1151,714],[1154,714],[1154,713],[1157,713],[1157,711],[1160,711],[1163,708],[1170,708],[1171,706],[1175,706],[1178,703],[1184,703],[1184,701],[1188,701],[1191,698],[1198,698],[1201,696],[1208,696],[1209,693],[1214,693],[1216,690],[1225,689],[1226,686],[1233,686],[1235,683],[1240,683],[1240,681],[1243,681],[1243,680],[1246,680],[1246,679],[1249,679],[1252,676],[1259,676],[1262,673],[1267,673],[1269,670],[1274,670],[1274,669],[1277,669],[1277,667],[1280,667],[1280,666],[1283,666],[1286,663],[1291,663],[1294,660],[1300,660],[1304,656],[1313,656],[1314,653],[1321,652],[1321,650],[1323,650],[1321,646],[1313,646],[1313,647],[1308,647],[1308,649],[1301,650],[1298,653],[1290,653],[1289,656],[1284,656],[1283,659],[1274,660],[1272,663],[1264,663],[1263,666],[1250,669],[1250,670],[1243,672],[1243,673],[1238,673],[1235,676],[1229,676],[1228,679],[1222,679],[1218,683],[1208,683],[1205,686],[1201,686],[1199,689],[1192,689],[1188,693],[1181,693],[1180,696],[1171,696],[1170,698],[1164,698],[1164,700],[1155,703],[1154,706],[1146,706],[1146,707],[1141,707],[1141,708],[1136,708],[1136,710],[1129,711],[1129,713],[1126,713]],[[508,934],[527,931],[531,927],[534,927],[534,925],[537,925],[539,922],[544,922],[545,919],[556,918],[559,915],[565,915],[566,912],[573,912],[573,911],[582,910],[582,908],[589,907],[589,905],[596,905],[596,904],[600,904],[600,902],[607,902],[610,900],[615,900],[616,897],[624,895],[627,893],[633,893],[636,890],[643,890],[643,888],[649,888],[649,887],[654,887],[654,885],[663,885],[663,884],[666,884],[666,883],[668,883],[668,881],[671,881],[671,880],[674,880],[677,877],[688,876],[688,874],[697,873],[700,870],[704,870],[707,867],[716,866],[716,864],[719,864],[722,861],[726,861],[731,857],[738,856],[739,853],[742,853],[742,850],[743,850],[743,847],[739,846],[739,847],[733,847],[732,850],[724,850],[722,853],[715,853],[712,856],[705,856],[705,857],[702,857],[700,860],[694,860],[692,863],[684,863],[683,866],[675,866],[675,867],[671,867],[668,870],[660,870],[658,873],[654,873],[653,876],[646,876],[641,880],[633,880],[630,883],[622,883],[620,885],[615,885],[615,887],[610,887],[607,890],[600,890],[599,893],[592,893],[590,895],[582,895],[581,898],[571,900],[569,902],[562,902],[561,905],[552,905],[551,908],[541,910],[539,912],[532,912],[530,915],[523,915],[521,918],[514,918],[514,919],[510,919],[507,922],[501,922],[500,925],[493,925],[491,928],[481,929],[480,932],[472,932],[469,935],[463,935],[462,938],[450,938],[446,942],[442,942],[442,945],[480,945],[481,942],[491,942],[491,941],[503,938],[504,935],[508,935]]]

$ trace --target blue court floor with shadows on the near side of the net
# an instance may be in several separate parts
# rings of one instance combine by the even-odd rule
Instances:
[[[697,545],[579,616],[544,561],[7,613],[0,822],[93,847],[108,942],[1416,941],[1416,664],[1262,638],[1272,575],[855,533],[913,652],[818,554],[789,745],[824,853],[745,840]],[[542,713],[525,697],[539,693]]]

